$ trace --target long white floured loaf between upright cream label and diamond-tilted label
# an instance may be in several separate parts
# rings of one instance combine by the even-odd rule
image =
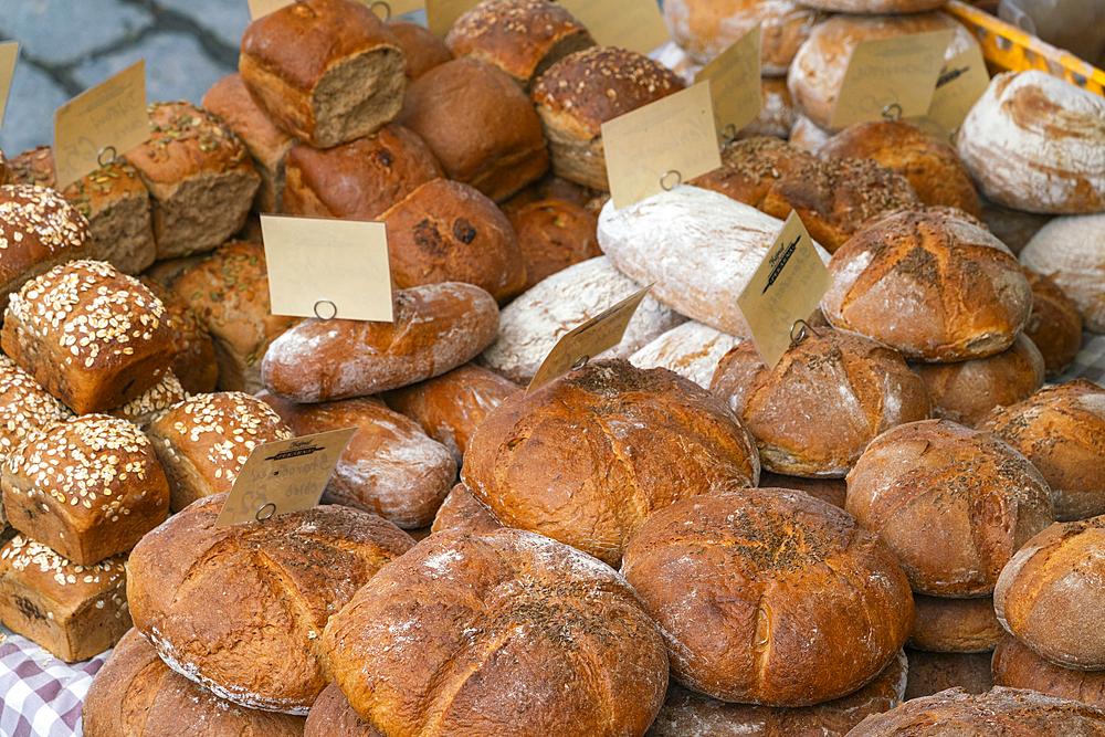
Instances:
[[[599,248],[652,296],[682,315],[738,338],[748,326],[737,297],[782,221],[724,194],[676,187],[630,207],[608,202],[599,214]],[[829,254],[817,245],[821,259]]]

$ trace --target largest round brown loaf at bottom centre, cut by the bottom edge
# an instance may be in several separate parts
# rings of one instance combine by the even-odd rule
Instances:
[[[667,656],[617,571],[534,533],[438,533],[330,618],[330,673],[386,735],[643,735]]]

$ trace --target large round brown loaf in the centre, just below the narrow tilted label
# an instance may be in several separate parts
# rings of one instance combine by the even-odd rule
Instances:
[[[461,478],[504,525],[617,565],[649,515],[755,486],[759,457],[720,399],[613,359],[507,398],[476,429]]]

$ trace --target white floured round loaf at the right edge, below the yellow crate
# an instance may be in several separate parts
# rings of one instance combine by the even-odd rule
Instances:
[[[990,81],[956,139],[979,189],[1029,212],[1105,212],[1105,99],[1039,70]]]

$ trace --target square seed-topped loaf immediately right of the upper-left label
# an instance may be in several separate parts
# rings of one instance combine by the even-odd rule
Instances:
[[[150,139],[127,151],[149,190],[158,259],[210,251],[242,228],[261,177],[242,141],[186,102],[149,106]]]

